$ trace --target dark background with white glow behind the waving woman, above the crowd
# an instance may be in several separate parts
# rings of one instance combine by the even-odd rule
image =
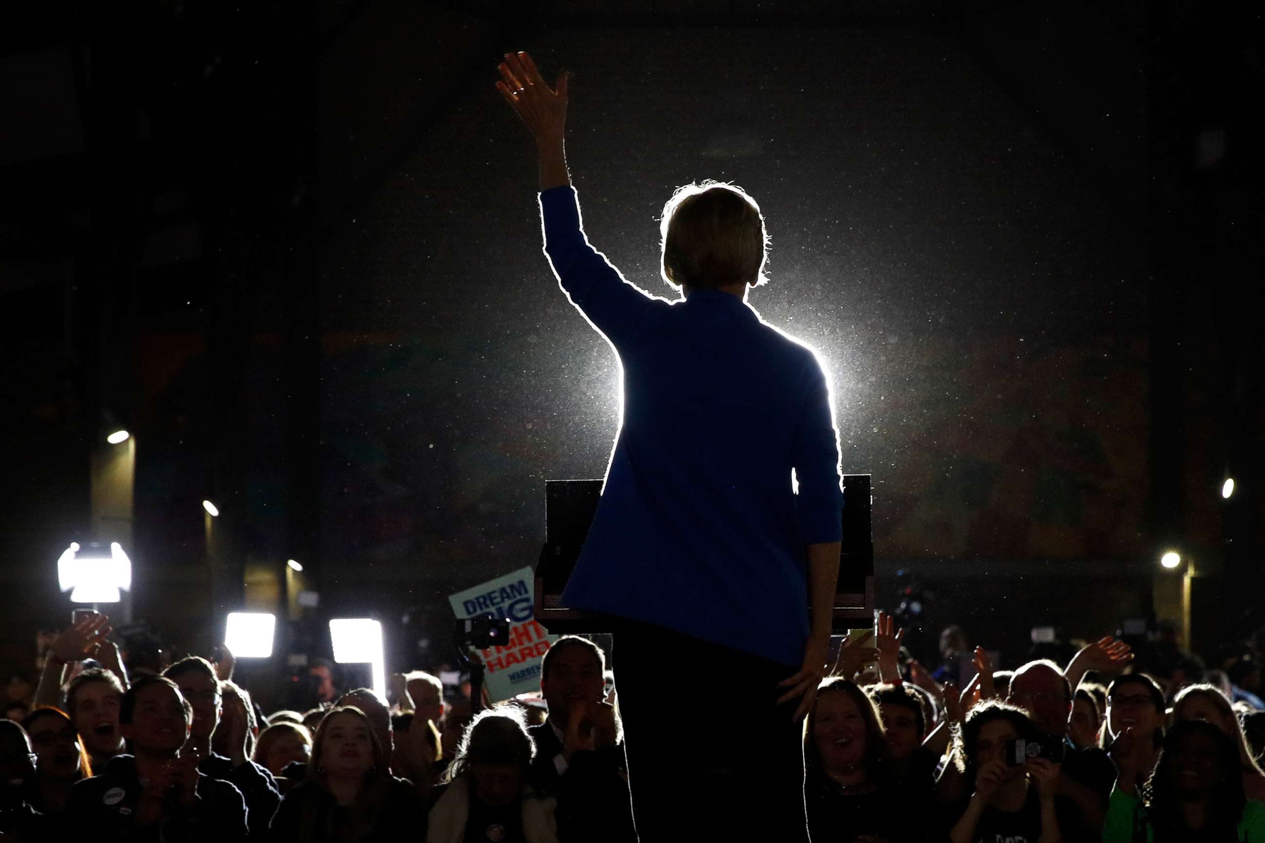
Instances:
[[[283,646],[369,614],[388,670],[433,666],[447,595],[535,562],[544,480],[602,475],[619,394],[540,252],[534,145],[493,88],[519,49],[573,73],[572,181],[627,279],[670,294],[677,186],[760,203],[750,302],[831,368],[879,602],[934,594],[911,642],[950,619],[1012,660],[1031,626],[1097,637],[1151,613],[1169,547],[1225,603],[1198,640],[1238,632],[1265,480],[1260,18],[878,5],[14,9],[0,661],[29,666],[70,610],[54,561],[119,427],[133,617],[177,647],[276,608],[299,559],[320,607]]]

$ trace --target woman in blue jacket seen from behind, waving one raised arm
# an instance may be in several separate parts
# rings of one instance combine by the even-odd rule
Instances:
[[[676,191],[660,263],[682,297],[651,296],[584,234],[563,148],[567,76],[550,87],[526,53],[498,70],[535,139],[545,255],[624,375],[620,434],[562,602],[615,629],[636,830],[805,840],[798,724],[826,674],[841,536],[830,379],[746,303],[767,281],[754,198],[712,181]],[[756,696],[682,718],[662,704],[665,657],[741,675]],[[731,810],[744,800],[764,810]]]

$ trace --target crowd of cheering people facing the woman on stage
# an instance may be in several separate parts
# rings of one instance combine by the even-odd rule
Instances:
[[[588,638],[553,645],[538,694],[488,708],[424,671],[392,675],[386,700],[339,691],[318,661],[319,704],[267,713],[230,653],[129,671],[109,634],[105,616],[85,617],[52,640],[38,679],[10,677],[0,839],[639,839],[638,781],[654,772],[629,770],[617,674]],[[1166,636],[1002,671],[958,628],[923,665],[880,616],[816,690],[805,815],[787,828],[859,843],[1265,840],[1255,642],[1209,669]],[[974,675],[959,688],[964,658]],[[686,722],[740,704],[741,676],[711,679],[734,699],[701,694]],[[674,752],[660,763],[706,763]]]

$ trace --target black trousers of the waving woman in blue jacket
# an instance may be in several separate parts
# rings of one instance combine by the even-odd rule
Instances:
[[[797,669],[644,624],[617,628],[615,689],[640,843],[808,840]]]

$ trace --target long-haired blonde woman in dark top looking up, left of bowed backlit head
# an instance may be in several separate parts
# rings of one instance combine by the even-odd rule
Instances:
[[[358,708],[334,708],[312,742],[307,777],[281,800],[275,840],[377,843],[402,830],[424,837],[426,811],[412,785],[387,772],[387,757]]]

